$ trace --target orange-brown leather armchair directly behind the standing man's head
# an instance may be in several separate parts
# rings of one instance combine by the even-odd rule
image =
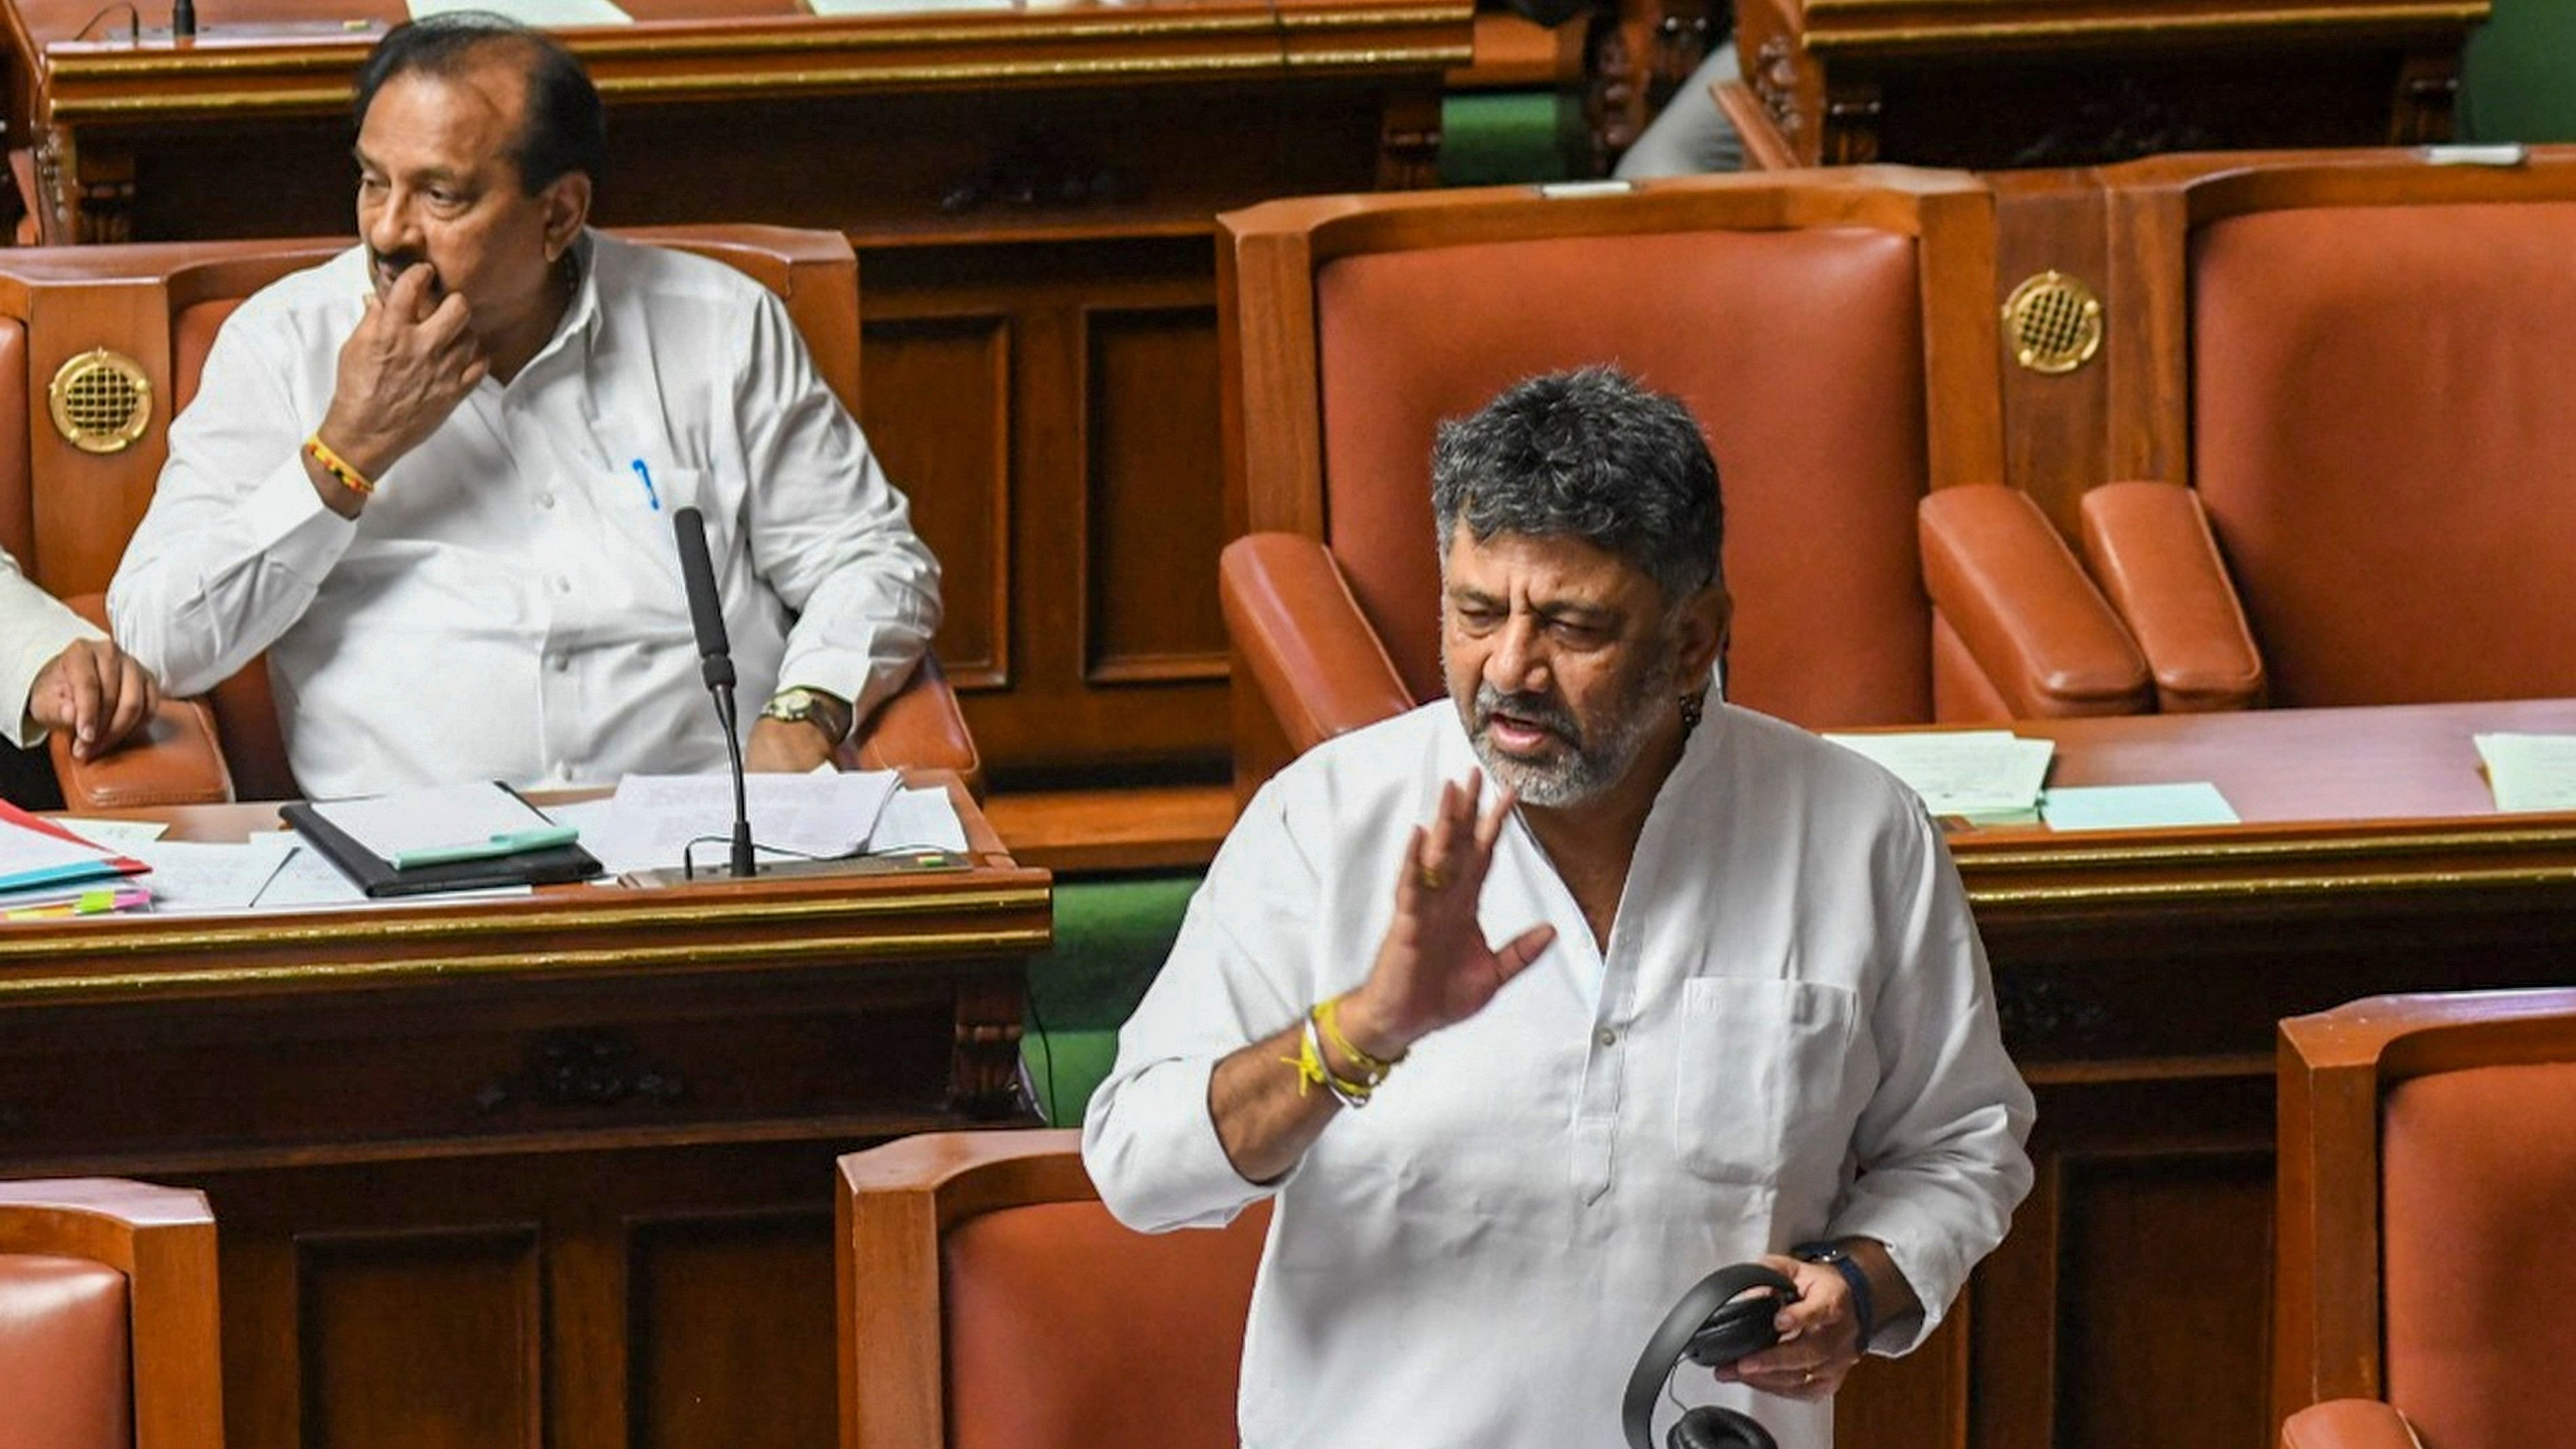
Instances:
[[[1226,466],[1249,533],[1221,566],[1255,685],[1234,695],[1239,782],[1440,692],[1432,427],[1602,360],[1708,427],[1734,700],[1806,726],[2148,705],[2074,553],[1991,486],[1994,206],[1973,178],[1332,196],[1218,226]]]

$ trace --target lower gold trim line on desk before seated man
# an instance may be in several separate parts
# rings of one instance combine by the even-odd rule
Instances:
[[[446,955],[412,960],[348,960],[301,965],[211,965],[178,970],[129,970],[108,975],[21,975],[0,978],[0,1004],[62,1001],[98,996],[178,996],[198,991],[224,991],[234,986],[402,986],[412,981],[479,978],[479,975],[562,975],[577,970],[634,970],[634,968],[696,968],[696,965],[783,965],[804,957],[871,960],[889,955],[1025,955],[1046,950],[1054,932],[1046,927],[1018,932],[920,932],[920,934],[866,934],[866,937],[811,937],[799,942],[732,942],[732,945],[677,945],[677,947],[623,947],[623,950],[556,950],[510,955]]]

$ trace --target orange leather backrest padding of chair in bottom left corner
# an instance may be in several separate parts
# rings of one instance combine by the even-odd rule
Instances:
[[[0,1444],[134,1449],[129,1359],[124,1274],[0,1253]]]

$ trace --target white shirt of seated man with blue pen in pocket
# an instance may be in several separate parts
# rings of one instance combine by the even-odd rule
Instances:
[[[744,728],[781,685],[866,713],[930,641],[938,564],[786,306],[706,257],[582,252],[546,350],[474,389],[355,522],[299,448],[363,314],[361,250],[245,301],[170,425],[108,587],[116,638],[178,695],[265,649],[304,793],[721,770],[680,507],[706,515]]]

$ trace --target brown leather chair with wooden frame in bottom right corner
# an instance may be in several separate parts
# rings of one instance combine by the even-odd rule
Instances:
[[[2378,996],[2282,1022],[2280,1441],[2566,1444],[2571,1220],[2576,991]]]

